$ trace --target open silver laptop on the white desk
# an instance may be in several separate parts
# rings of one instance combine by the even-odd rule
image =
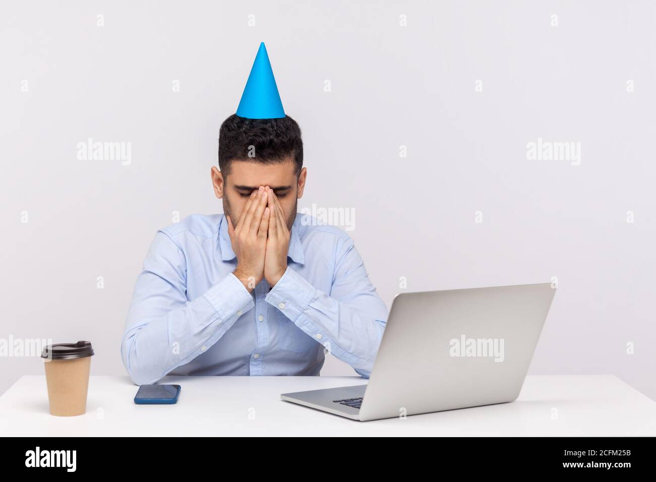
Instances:
[[[555,292],[544,283],[399,294],[369,384],[280,397],[362,422],[514,401]]]

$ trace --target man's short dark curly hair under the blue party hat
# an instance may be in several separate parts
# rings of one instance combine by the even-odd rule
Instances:
[[[233,114],[218,131],[218,169],[224,176],[230,174],[232,161],[272,164],[290,156],[298,177],[303,167],[303,141],[297,121],[289,115],[282,119],[246,119]]]

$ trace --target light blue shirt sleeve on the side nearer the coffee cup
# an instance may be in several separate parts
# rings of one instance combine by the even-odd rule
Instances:
[[[253,296],[232,273],[194,300],[186,296],[184,253],[158,231],[136,280],[121,358],[133,382],[152,384],[215,344]]]

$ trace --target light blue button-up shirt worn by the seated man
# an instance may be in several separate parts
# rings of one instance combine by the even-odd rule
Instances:
[[[297,213],[287,271],[250,293],[223,214],[163,230],[144,260],[121,357],[134,383],[176,375],[318,375],[325,353],[369,378],[387,320],[353,240]]]

